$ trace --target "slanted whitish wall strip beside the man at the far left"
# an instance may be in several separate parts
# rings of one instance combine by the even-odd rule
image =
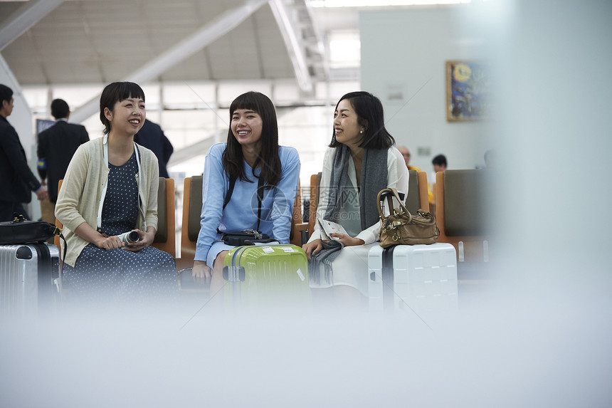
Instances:
[[[17,131],[23,150],[26,150],[26,156],[28,157],[28,164],[32,172],[38,177],[36,173],[36,138],[33,132],[33,119],[32,112],[26,99],[23,98],[21,93],[21,86],[17,82],[13,75],[11,68],[6,64],[4,58],[0,54],[0,83],[8,86],[13,90],[14,108],[13,113],[6,119]],[[38,219],[41,216],[41,206],[38,204],[36,194],[32,193],[32,201],[28,208],[28,212],[32,219]]]

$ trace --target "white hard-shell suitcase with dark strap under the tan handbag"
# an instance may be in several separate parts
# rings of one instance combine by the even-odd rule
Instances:
[[[372,312],[457,309],[457,258],[450,244],[374,246],[368,253],[368,268]]]

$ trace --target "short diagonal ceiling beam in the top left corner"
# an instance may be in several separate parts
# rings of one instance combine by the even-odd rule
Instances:
[[[0,51],[32,28],[64,0],[32,0],[0,24]]]

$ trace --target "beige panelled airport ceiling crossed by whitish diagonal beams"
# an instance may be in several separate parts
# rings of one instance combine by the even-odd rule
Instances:
[[[295,78],[308,93],[329,70],[306,1],[0,0],[0,53],[21,85]]]

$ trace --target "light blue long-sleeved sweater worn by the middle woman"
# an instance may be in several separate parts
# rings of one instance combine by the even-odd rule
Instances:
[[[231,199],[223,209],[223,201],[229,189],[229,178],[221,163],[226,145],[213,145],[204,162],[196,261],[206,261],[213,241],[221,238],[217,229],[221,232],[238,232],[257,227],[257,179],[254,179],[253,169],[246,162],[243,162],[245,173],[253,182],[236,180]],[[289,242],[293,202],[300,178],[300,157],[293,147],[284,146],[278,148],[278,155],[282,166],[280,182],[275,188],[264,192],[259,230],[281,244],[286,244]],[[259,174],[260,169],[255,169],[255,175]]]

